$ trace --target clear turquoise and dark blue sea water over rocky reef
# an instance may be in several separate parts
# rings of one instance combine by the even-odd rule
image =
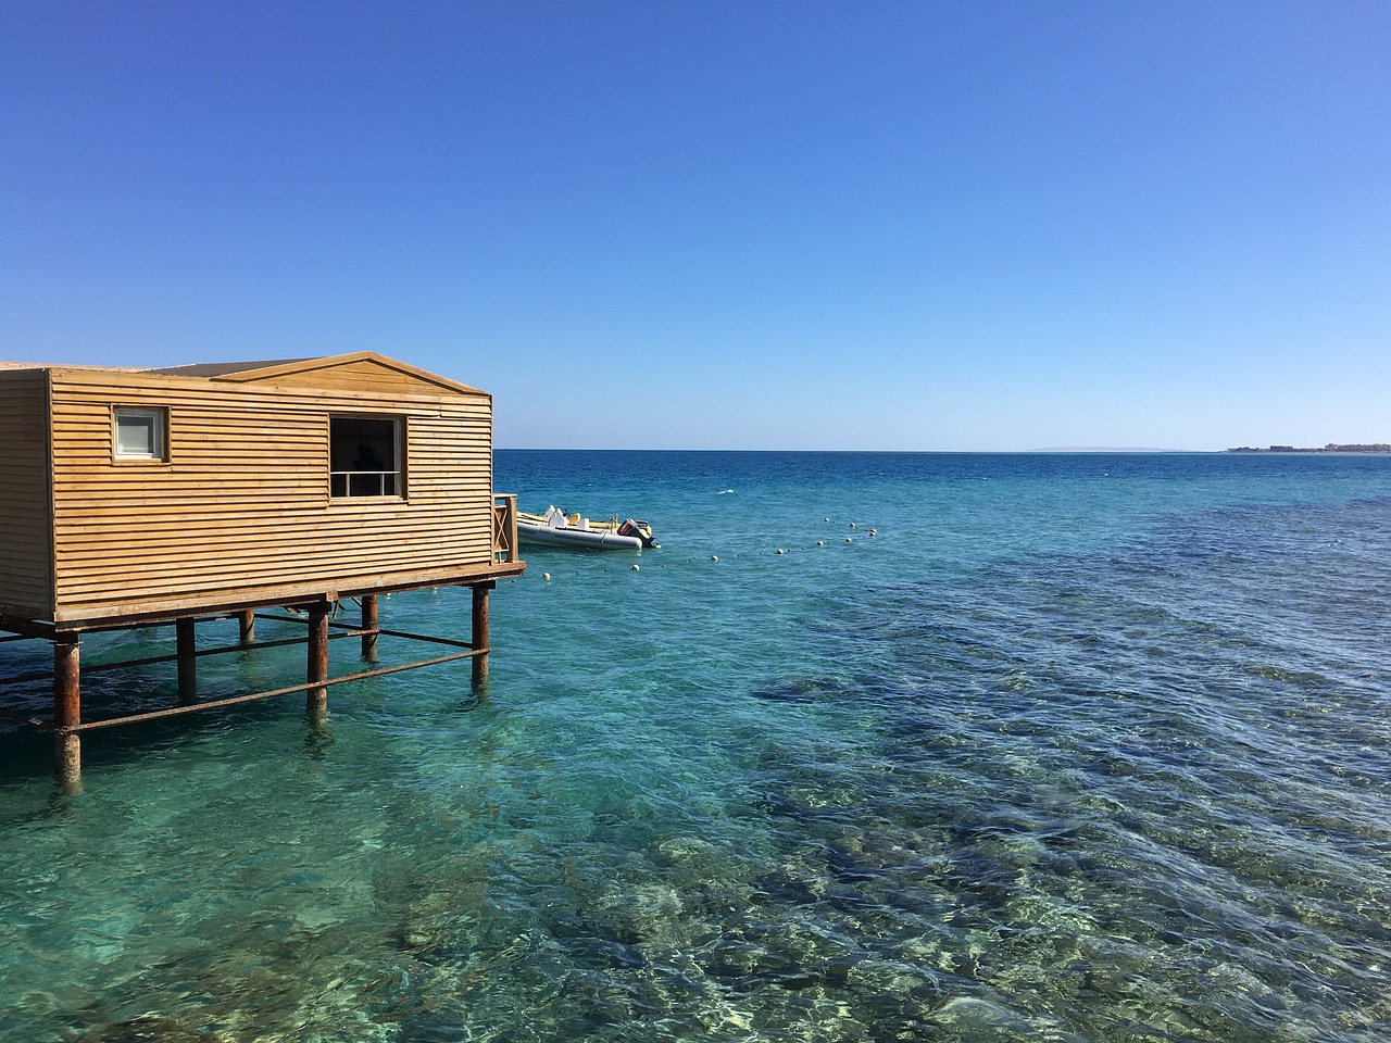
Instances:
[[[495,485],[664,547],[529,551],[481,698],[463,663],[331,690],[323,737],[298,695],[90,733],[79,795],[0,727],[0,1039],[1391,1037],[1391,458],[516,451]],[[466,638],[467,591],[383,626]]]

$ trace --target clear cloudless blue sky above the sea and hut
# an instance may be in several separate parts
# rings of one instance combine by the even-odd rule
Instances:
[[[1391,441],[1391,4],[0,0],[0,357],[501,446]]]

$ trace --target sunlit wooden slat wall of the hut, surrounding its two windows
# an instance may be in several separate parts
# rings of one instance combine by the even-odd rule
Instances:
[[[113,405],[170,410],[167,463],[113,462]],[[352,412],[405,417],[406,501],[330,499],[328,417]],[[53,414],[64,619],[252,588],[391,585],[492,560],[484,394],[64,370]]]

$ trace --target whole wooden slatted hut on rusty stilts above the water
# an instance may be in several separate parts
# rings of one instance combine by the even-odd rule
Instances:
[[[53,645],[53,718],[21,718],[54,733],[68,783],[90,729],[299,691],[317,720],[332,684],[462,658],[476,684],[487,677],[488,591],[526,567],[516,498],[492,491],[487,392],[373,352],[163,370],[0,364],[0,631]],[[378,626],[378,595],[438,585],[472,588],[467,641]],[[349,598],[357,624],[331,619]],[[199,656],[255,644],[255,620],[277,606],[303,623],[305,683],[198,701]],[[227,616],[241,622],[238,645],[198,649],[198,622]],[[82,636],[152,624],[175,629],[175,654],[142,662],[177,662],[178,705],[85,720]],[[330,677],[331,636],[360,637],[370,666],[380,634],[448,651]]]

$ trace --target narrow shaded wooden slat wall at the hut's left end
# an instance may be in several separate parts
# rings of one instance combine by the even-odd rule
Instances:
[[[46,370],[0,373],[0,612],[29,619],[53,612],[47,398]]]

